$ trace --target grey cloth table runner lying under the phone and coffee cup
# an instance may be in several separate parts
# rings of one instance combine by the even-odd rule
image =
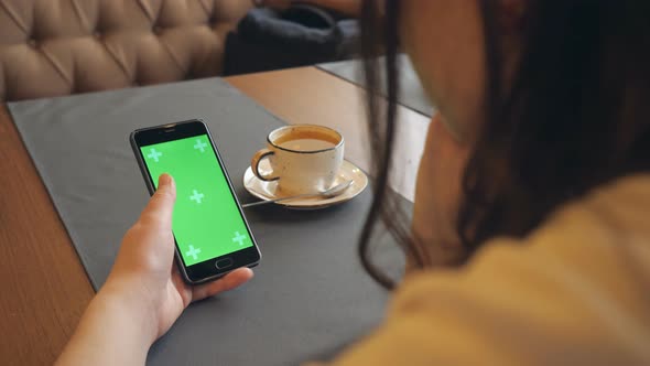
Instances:
[[[128,143],[133,129],[204,119],[247,202],[252,197],[241,177],[249,159],[282,125],[220,79],[13,103],[9,109],[96,289],[149,197]],[[356,255],[369,201],[365,192],[318,212],[249,209],[263,255],[256,278],[193,304],[148,363],[295,365],[329,356],[369,331],[386,304]],[[388,241],[379,250],[397,258]]]

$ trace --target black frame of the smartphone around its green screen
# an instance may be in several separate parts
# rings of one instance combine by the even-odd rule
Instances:
[[[241,204],[239,203],[239,198],[237,197],[237,194],[235,193],[235,190],[232,189],[232,183],[230,182],[230,176],[228,174],[228,171],[226,170],[226,166],[224,165],[224,162],[221,161],[221,155],[219,154],[219,150],[217,149],[217,147],[213,140],[213,137],[209,132],[208,127],[199,119],[192,119],[192,120],[186,120],[186,121],[181,121],[181,122],[175,122],[175,123],[161,125],[161,126],[138,129],[138,130],[131,132],[131,136],[129,139],[131,142],[131,148],[133,149],[133,153],[136,154],[136,158],[138,160],[138,165],[140,165],[140,171],[142,173],[142,176],[144,177],[144,181],[147,182],[147,187],[149,190],[149,193],[151,195],[153,195],[153,193],[155,192],[155,187],[153,184],[153,177],[149,173],[149,169],[147,169],[147,164],[144,163],[144,158],[142,157],[142,152],[141,152],[140,148],[147,147],[150,144],[174,141],[174,140],[180,140],[180,139],[185,139],[185,138],[191,138],[191,137],[202,136],[202,134],[206,134],[208,137],[208,140],[210,141],[210,146],[213,148],[213,151],[215,152],[215,155],[217,157],[217,162],[218,162],[219,166],[221,168],[224,175],[226,176],[226,181],[228,182],[228,187],[230,189],[230,193],[232,194],[232,197],[235,198],[235,202],[237,203],[237,208],[239,211],[239,215],[241,216],[241,219],[245,223],[246,229],[248,232],[248,236],[252,241],[252,246],[241,249],[241,250],[237,250],[237,251],[224,255],[224,256],[220,256],[220,257],[216,257],[216,258],[213,258],[213,259],[209,259],[209,260],[196,263],[196,265],[186,266],[185,261],[183,260],[183,256],[181,256],[181,254],[178,251],[178,243],[176,240],[176,236],[174,235],[174,246],[175,246],[174,251],[175,251],[176,262],[178,265],[178,268],[181,269],[181,273],[183,274],[184,280],[191,284],[198,284],[198,283],[204,283],[204,282],[208,282],[210,280],[218,279],[218,278],[225,276],[226,273],[232,271],[234,269],[237,269],[240,267],[254,267],[259,263],[259,261],[261,259],[261,254],[259,251],[257,241],[254,239],[254,236],[252,235],[252,232],[250,229],[250,226],[248,224],[246,215],[243,214],[243,211],[241,208]],[[228,266],[228,268],[223,268],[223,269],[217,268],[216,263],[223,259],[226,259],[226,258],[231,259],[232,265]]]

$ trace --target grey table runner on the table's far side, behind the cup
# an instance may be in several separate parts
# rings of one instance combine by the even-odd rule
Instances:
[[[398,101],[401,105],[416,110],[422,115],[433,116],[435,108],[431,105],[429,97],[426,97],[426,94],[422,88],[422,84],[420,83],[418,74],[415,74],[415,71],[413,69],[410,58],[403,54],[399,55],[398,57],[401,62],[401,67],[399,68],[401,93],[398,96]],[[381,71],[383,71],[383,57],[380,58],[380,65]],[[360,61],[339,61],[318,64],[317,67],[354,84],[360,85],[362,87],[366,86],[366,80],[364,79],[361,68],[362,64]],[[382,90],[382,93],[386,93],[386,90]]]

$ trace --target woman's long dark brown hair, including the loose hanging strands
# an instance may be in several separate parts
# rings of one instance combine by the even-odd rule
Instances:
[[[650,171],[650,2],[526,1],[521,56],[505,85],[501,1],[477,1],[487,77],[485,120],[465,168],[456,219],[465,260],[495,236],[526,236],[559,205],[597,185]],[[369,254],[379,219],[413,265],[426,266],[388,187],[400,90],[399,2],[367,0],[361,19],[368,90],[384,80],[388,104],[380,110],[381,97],[368,93],[376,179],[359,251],[366,270],[387,288],[394,281]],[[382,73],[379,54],[386,55]],[[496,164],[503,174],[494,174]]]

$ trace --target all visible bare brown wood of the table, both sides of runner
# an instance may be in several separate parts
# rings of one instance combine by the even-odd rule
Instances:
[[[362,90],[315,67],[227,78],[290,123],[335,127],[368,169]],[[393,185],[412,198],[429,118],[400,108]],[[397,179],[400,177],[400,179]],[[94,295],[88,277],[4,105],[0,105],[0,364],[52,364]]]

